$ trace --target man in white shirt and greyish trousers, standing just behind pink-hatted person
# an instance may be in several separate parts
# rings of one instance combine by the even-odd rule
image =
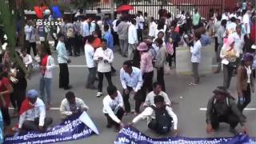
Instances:
[[[132,19],[131,20],[131,25],[129,26],[128,30],[128,59],[132,60],[133,59],[133,52],[136,49],[136,45],[138,44],[138,35],[137,35],[137,30],[136,30],[136,20]]]

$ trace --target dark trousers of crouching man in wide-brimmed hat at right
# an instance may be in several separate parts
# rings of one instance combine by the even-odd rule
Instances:
[[[211,126],[214,130],[218,129],[219,122],[226,122],[230,124],[230,127],[235,128],[238,126],[239,118],[233,113],[226,114],[225,116],[218,116],[218,114],[211,115]]]

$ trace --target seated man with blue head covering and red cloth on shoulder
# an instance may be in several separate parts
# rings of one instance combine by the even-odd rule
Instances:
[[[18,132],[44,131],[53,122],[52,118],[46,117],[46,106],[42,99],[38,98],[37,90],[29,90],[26,93],[19,115]]]

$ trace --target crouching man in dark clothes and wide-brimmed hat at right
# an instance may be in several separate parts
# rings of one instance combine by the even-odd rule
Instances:
[[[226,122],[230,125],[230,132],[236,135],[238,132],[235,130],[235,127],[240,122],[242,132],[246,134],[246,118],[238,110],[234,98],[226,88],[218,86],[213,93],[214,96],[210,98],[206,110],[206,132],[211,133],[214,130],[218,130],[219,122]]]

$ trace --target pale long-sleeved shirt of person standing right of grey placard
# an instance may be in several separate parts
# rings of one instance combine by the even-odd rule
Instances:
[[[190,52],[192,54],[191,56],[191,62],[201,62],[201,48],[202,44],[200,40],[194,43],[193,47],[190,47]]]

